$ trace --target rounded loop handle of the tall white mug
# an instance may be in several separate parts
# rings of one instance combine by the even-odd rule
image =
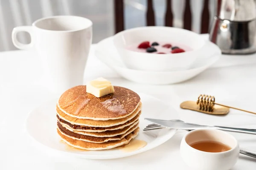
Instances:
[[[17,33],[25,31],[29,33],[31,37],[31,42],[29,44],[23,44],[17,40]],[[34,38],[33,38],[33,30],[32,26],[18,26],[13,28],[12,30],[12,43],[15,47],[21,49],[21,50],[28,50],[34,46]]]

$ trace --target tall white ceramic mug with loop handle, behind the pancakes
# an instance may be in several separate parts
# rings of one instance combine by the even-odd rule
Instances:
[[[28,32],[29,44],[17,40],[17,33]],[[84,68],[92,42],[92,22],[78,16],[53,16],[36,20],[32,26],[12,31],[12,42],[19,49],[34,48],[43,64],[47,85],[55,93],[83,84]]]

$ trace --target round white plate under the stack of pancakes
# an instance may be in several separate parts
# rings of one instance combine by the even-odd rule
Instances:
[[[144,118],[178,119],[178,115],[174,108],[171,108],[159,99],[145,94],[139,95],[143,103],[143,108],[140,116],[140,133],[136,139],[144,140],[147,142],[147,145],[133,152],[124,152],[119,149],[99,151],[70,150],[67,144],[61,142],[61,138],[58,136],[56,130],[57,118],[55,105],[57,99],[46,102],[29,113],[26,121],[26,130],[37,142],[55,151],[62,152],[62,155],[66,154],[67,156],[78,156],[85,159],[116,159],[142,153],[163,144],[176,133],[174,129],[143,131],[146,125],[151,124],[144,120]]]

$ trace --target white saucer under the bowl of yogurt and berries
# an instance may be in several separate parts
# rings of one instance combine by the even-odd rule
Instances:
[[[113,37],[100,41],[95,50],[95,56],[121,77],[133,82],[164,85],[183,82],[200,74],[221,56],[218,46],[207,41],[204,47],[205,56],[198,57],[192,67],[183,71],[140,71],[126,68],[113,45]]]

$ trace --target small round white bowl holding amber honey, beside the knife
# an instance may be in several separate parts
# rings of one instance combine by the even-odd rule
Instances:
[[[222,130],[192,130],[183,137],[180,154],[196,170],[230,170],[238,160],[239,143]]]

